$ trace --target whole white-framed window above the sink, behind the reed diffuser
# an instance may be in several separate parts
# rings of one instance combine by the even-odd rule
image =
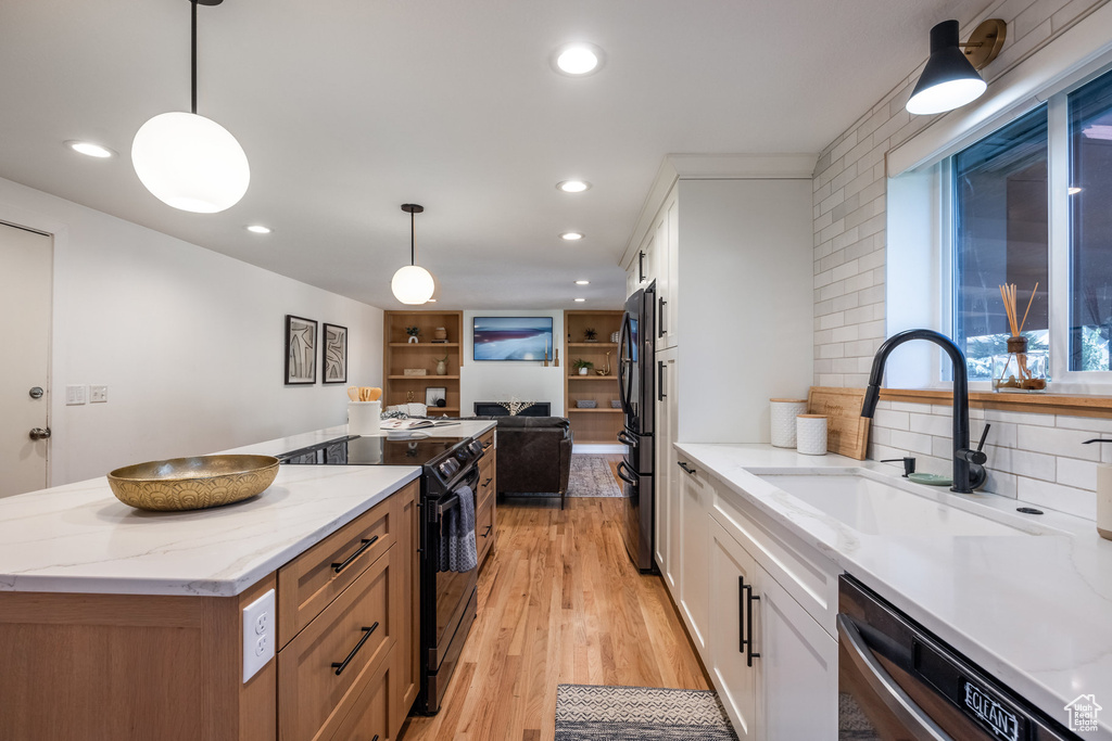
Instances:
[[[1027,347],[1050,352],[1052,390],[1108,393],[1093,384],[1112,383],[1112,72],[1050,97],[936,172],[942,323],[970,380],[989,381],[1006,352],[1000,287],[1014,284]]]

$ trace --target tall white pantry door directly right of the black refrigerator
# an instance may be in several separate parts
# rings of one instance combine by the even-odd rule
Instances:
[[[656,353],[656,445],[654,481],[656,485],[656,519],[654,522],[654,558],[661,575],[673,590],[676,589],[679,565],[679,477],[683,472],[676,465],[676,441],[678,420],[676,404],[678,393],[678,364],[675,349]]]

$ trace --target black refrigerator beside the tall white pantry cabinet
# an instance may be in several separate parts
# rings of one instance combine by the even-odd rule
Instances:
[[[626,300],[618,340],[618,395],[625,424],[618,442],[626,445],[618,463],[624,482],[623,537],[634,564],[643,572],[653,564],[653,423],[656,404],[656,283]]]

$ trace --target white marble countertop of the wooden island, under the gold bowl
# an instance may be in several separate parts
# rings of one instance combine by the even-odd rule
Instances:
[[[474,437],[494,425],[427,432]],[[339,425],[222,452],[274,455],[346,434]],[[0,592],[238,594],[419,474],[416,465],[282,465],[258,497],[191,512],[132,509],[105,478],[0,499]]]

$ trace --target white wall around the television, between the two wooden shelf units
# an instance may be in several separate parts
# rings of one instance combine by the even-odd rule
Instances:
[[[542,362],[493,361],[476,362],[473,348],[475,317],[552,317],[553,342],[557,349],[564,347],[564,312],[558,309],[542,311],[464,311],[464,367],[459,370],[459,413],[469,417],[475,413],[476,401],[547,401],[552,413],[564,413],[565,358],[560,367]],[[560,352],[563,356],[563,350]]]

